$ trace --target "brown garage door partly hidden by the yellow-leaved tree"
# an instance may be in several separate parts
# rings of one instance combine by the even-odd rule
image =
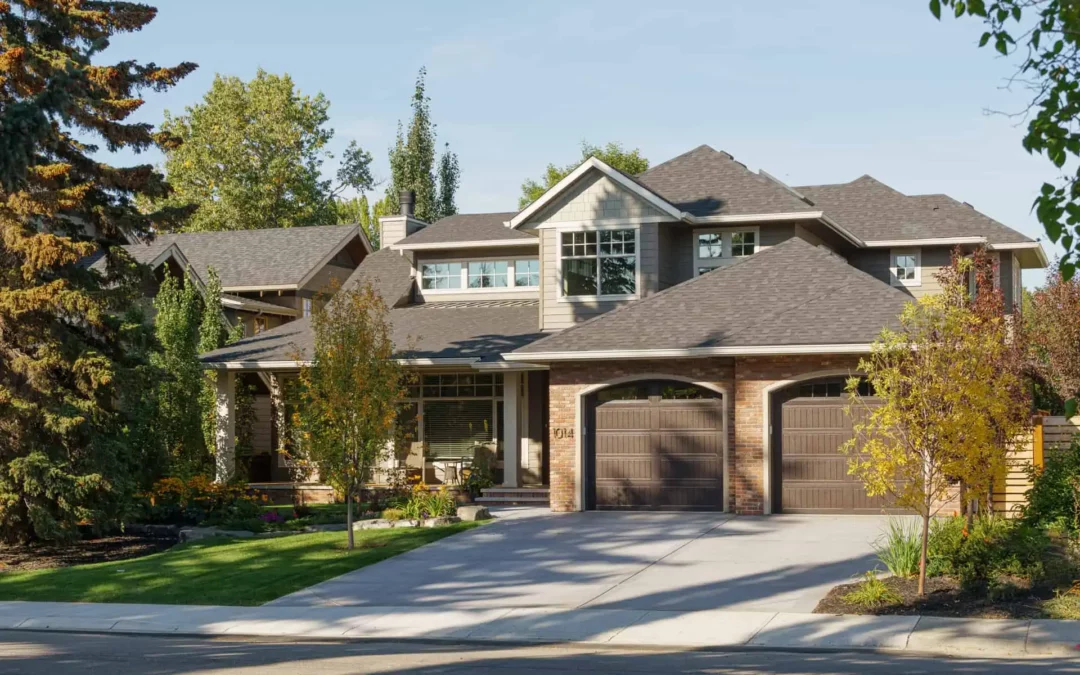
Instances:
[[[889,507],[848,474],[850,458],[840,451],[852,437],[846,406],[846,399],[835,397],[798,397],[781,406],[781,511],[881,513]]]

